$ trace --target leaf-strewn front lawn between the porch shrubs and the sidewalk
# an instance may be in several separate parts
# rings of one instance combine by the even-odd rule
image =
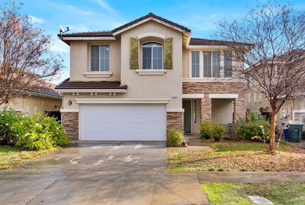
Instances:
[[[264,143],[213,142],[208,150],[168,152],[169,171],[305,172],[305,150],[280,144],[277,154],[264,152]]]

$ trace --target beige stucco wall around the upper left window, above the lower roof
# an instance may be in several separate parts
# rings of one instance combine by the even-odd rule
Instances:
[[[90,45],[109,44],[110,77],[86,77],[84,72],[90,72]],[[117,40],[70,41],[70,80],[72,81],[117,81],[120,80],[120,38]],[[102,72],[101,72],[102,73]]]

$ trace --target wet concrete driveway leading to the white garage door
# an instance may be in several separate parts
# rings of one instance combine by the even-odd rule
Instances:
[[[74,142],[0,171],[0,204],[209,204],[196,173],[166,164],[165,142]]]

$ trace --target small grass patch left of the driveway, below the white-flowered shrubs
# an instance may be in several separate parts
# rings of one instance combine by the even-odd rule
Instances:
[[[18,147],[1,146],[0,147],[0,170],[21,165],[42,154],[57,150],[56,148],[39,151],[24,151]]]

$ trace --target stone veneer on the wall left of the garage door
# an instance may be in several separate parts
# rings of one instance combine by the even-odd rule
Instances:
[[[61,123],[66,133],[70,135],[70,140],[79,140],[78,138],[78,112],[62,112]]]

